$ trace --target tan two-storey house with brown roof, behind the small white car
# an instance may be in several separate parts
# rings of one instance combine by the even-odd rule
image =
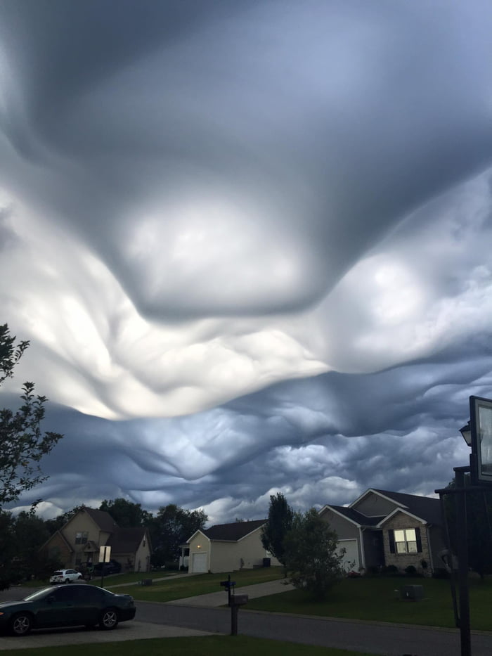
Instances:
[[[111,547],[111,558],[122,565],[122,571],[150,570],[148,529],[119,528],[109,513],[94,508],[79,510],[41,549],[61,560],[63,567],[77,568],[85,564],[96,565],[101,546]]]

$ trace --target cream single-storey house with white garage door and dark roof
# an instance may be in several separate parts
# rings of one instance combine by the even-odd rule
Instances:
[[[184,548],[189,548],[188,571],[233,572],[264,565],[280,565],[261,544],[261,527],[266,520],[217,524],[199,529]],[[183,551],[184,553],[184,551]]]

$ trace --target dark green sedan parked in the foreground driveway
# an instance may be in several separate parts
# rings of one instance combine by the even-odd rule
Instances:
[[[14,636],[55,626],[98,625],[108,631],[134,617],[133,597],[84,584],[50,586],[22,601],[0,603],[0,630]]]

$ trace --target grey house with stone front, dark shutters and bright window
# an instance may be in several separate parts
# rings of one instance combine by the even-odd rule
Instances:
[[[346,570],[413,565],[427,571],[443,567],[446,548],[439,499],[368,489],[349,506],[324,506],[321,517],[337,532],[345,548]]]

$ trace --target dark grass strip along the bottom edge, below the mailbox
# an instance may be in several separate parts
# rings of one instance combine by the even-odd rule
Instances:
[[[207,636],[205,638],[150,638],[148,640],[129,640],[102,645],[61,645],[60,647],[39,647],[36,649],[2,650],[2,656],[371,656],[369,652],[354,652],[311,645],[250,638],[249,636]]]

